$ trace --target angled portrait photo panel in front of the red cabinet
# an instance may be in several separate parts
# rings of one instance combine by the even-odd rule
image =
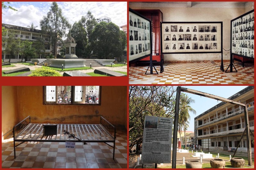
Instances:
[[[152,54],[151,21],[129,9],[129,62]]]

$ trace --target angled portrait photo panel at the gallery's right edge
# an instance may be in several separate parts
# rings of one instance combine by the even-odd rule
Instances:
[[[254,58],[254,10],[231,20],[231,54]]]

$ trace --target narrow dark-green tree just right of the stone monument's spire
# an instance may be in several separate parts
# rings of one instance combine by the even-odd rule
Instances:
[[[81,21],[81,20],[80,20]],[[71,36],[76,41],[76,55],[82,56],[85,54],[85,47],[87,44],[87,35],[82,23],[75,22],[70,30]]]

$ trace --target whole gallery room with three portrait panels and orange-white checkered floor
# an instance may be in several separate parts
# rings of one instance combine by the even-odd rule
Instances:
[[[129,84],[254,84],[254,2],[129,2]]]

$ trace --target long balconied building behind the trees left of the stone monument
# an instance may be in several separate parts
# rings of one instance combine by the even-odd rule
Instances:
[[[52,48],[51,45],[49,45],[49,36],[43,35],[41,30],[38,29],[30,29],[28,27],[22,27],[22,26],[14,26],[9,24],[2,24],[2,27],[7,29],[7,35],[8,31],[12,30],[14,33],[16,33],[16,38],[20,38],[21,41],[36,41],[38,38],[43,38],[45,40],[45,55],[52,54]],[[4,49],[2,49],[3,51]],[[10,54],[5,54],[5,52],[2,52],[2,59],[9,59],[11,57]],[[21,59],[21,55],[19,52],[15,56],[12,56],[11,59]]]

